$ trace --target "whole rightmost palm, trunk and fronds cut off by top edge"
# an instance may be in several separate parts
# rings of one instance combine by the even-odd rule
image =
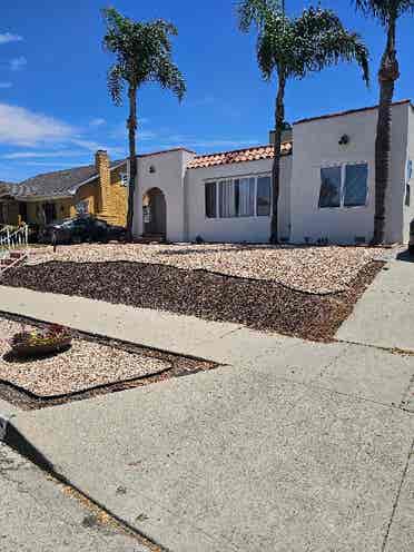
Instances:
[[[386,29],[386,46],[378,71],[379,107],[375,140],[375,218],[373,245],[385,241],[385,195],[391,168],[391,121],[395,81],[400,78],[396,57],[396,22],[407,12],[414,11],[414,0],[354,0],[365,16],[378,19]]]

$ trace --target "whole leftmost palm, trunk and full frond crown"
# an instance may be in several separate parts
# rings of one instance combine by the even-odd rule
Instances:
[[[107,31],[102,40],[105,50],[116,57],[108,71],[108,89],[115,105],[122,103],[124,88],[127,87],[129,117],[129,193],[127,234],[132,237],[134,196],[137,176],[136,132],[137,91],[147,82],[158,82],[170,89],[180,101],[186,92],[183,75],[171,60],[170,37],[177,36],[174,24],[158,19],[150,22],[134,21],[120,14],[115,8],[102,10]]]

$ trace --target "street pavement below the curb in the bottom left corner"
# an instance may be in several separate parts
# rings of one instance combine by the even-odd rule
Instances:
[[[0,443],[1,552],[151,552]]]

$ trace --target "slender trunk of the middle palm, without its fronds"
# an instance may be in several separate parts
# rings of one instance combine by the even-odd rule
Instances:
[[[276,97],[275,109],[275,146],[274,146],[274,161],[272,170],[272,223],[270,223],[270,244],[278,244],[278,204],[280,194],[280,146],[282,146],[282,130],[285,120],[285,87],[286,77],[279,72],[278,90]]]

